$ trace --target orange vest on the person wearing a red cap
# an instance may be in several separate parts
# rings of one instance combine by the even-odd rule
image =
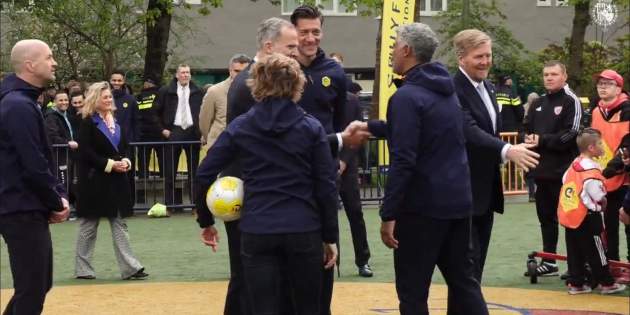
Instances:
[[[602,142],[604,147],[604,154],[599,158],[593,159],[595,162],[605,168],[606,164],[615,156],[621,140],[630,132],[630,121],[620,121],[621,111],[617,111],[610,120],[606,121],[599,107],[593,109],[593,122],[591,127],[599,130],[602,133]],[[623,174],[616,175],[612,178],[607,178],[604,181],[607,191],[615,191],[621,187],[621,185],[628,184],[628,176],[624,172]]]

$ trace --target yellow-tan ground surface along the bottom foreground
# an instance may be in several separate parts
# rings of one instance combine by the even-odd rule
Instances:
[[[170,282],[54,287],[44,314],[222,314],[227,282]],[[570,296],[566,292],[484,288],[490,314],[531,314],[531,309],[628,314],[630,297],[597,293]],[[12,290],[0,290],[4,309]],[[446,286],[433,285],[431,314],[446,314]],[[398,314],[392,283],[335,283],[333,314]],[[552,313],[545,313],[552,314]],[[579,314],[563,312],[558,314]]]

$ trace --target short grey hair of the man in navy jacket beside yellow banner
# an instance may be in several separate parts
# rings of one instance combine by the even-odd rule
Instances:
[[[396,29],[398,39],[405,42],[420,63],[431,61],[433,54],[440,45],[437,36],[431,28],[423,23],[411,23],[401,25]]]

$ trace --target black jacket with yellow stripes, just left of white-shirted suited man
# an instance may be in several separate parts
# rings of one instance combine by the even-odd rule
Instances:
[[[138,139],[137,141],[160,141],[162,129],[156,112],[158,87],[143,89],[136,97],[138,102]]]

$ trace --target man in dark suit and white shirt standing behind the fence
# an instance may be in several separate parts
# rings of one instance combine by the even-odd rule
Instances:
[[[162,124],[162,136],[167,141],[199,141],[199,111],[205,94],[191,80],[190,67],[181,64],[175,78],[160,89],[157,98],[157,113]],[[177,174],[179,155],[186,152],[188,181],[192,185],[199,164],[199,144],[170,145],[164,150],[164,197],[166,205],[175,204],[174,180]],[[189,186],[192,187],[192,186]],[[192,191],[190,200],[193,200]]]

